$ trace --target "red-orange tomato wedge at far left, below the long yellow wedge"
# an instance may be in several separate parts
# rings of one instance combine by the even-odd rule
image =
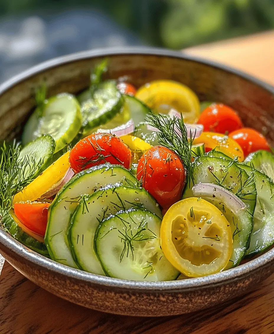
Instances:
[[[49,205],[50,203],[18,202],[14,203],[14,213],[20,222],[32,232],[45,236]]]

